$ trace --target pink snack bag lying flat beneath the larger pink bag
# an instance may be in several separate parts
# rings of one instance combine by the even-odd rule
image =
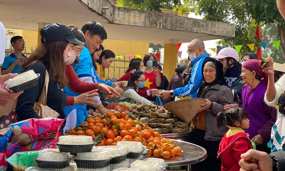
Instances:
[[[58,139],[51,139],[51,140],[37,140],[25,146],[10,144],[8,145],[8,148],[5,151],[6,158],[9,158],[11,155],[13,155],[16,152],[37,151],[46,148],[56,148],[55,143],[57,142]]]

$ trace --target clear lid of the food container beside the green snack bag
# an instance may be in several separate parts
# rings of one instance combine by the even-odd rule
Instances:
[[[39,151],[38,160],[44,161],[66,161],[70,158],[68,153],[59,152],[58,149],[43,149]]]

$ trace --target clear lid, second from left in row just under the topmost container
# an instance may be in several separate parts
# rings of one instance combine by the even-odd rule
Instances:
[[[77,153],[77,159],[83,160],[104,160],[109,159],[109,151],[92,151],[87,153]]]

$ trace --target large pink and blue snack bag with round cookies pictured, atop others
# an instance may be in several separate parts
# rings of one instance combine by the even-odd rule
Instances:
[[[9,125],[20,145],[28,145],[36,140],[54,139],[64,119],[31,118]]]

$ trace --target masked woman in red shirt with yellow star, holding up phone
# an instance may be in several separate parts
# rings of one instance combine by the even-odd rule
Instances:
[[[157,93],[157,87],[161,83],[161,75],[158,68],[152,66],[152,61],[156,60],[156,56],[153,53],[147,53],[143,58],[143,64],[145,69],[145,87],[140,88],[140,96],[145,97],[150,101],[155,101],[155,94]]]

